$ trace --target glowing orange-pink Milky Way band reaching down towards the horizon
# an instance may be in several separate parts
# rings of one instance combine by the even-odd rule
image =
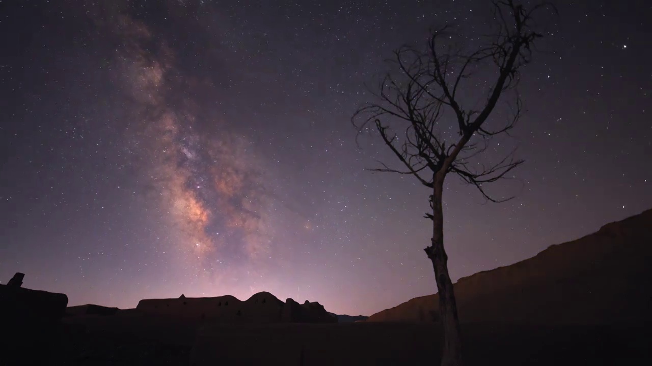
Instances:
[[[272,202],[255,148],[190,97],[196,89],[211,92],[210,78],[186,76],[175,51],[142,21],[114,17],[109,32],[119,46],[111,72],[130,99],[125,148],[141,162],[150,195],[169,221],[166,234],[190,275],[220,286],[252,285],[273,251]]]

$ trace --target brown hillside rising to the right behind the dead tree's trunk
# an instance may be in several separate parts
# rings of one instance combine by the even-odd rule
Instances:
[[[460,279],[460,321],[534,324],[652,322],[652,210],[550,246],[535,257]],[[376,313],[370,322],[437,321],[437,294]]]

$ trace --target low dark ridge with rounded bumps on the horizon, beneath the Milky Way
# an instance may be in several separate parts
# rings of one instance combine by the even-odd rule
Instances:
[[[336,322],[318,302],[284,303],[269,292],[258,292],[245,301],[226,295],[214,298],[149,299],[136,307],[144,314],[223,323]]]

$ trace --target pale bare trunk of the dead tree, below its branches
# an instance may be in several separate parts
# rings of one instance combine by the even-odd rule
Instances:
[[[462,365],[462,339],[460,337],[460,320],[457,315],[455,294],[452,288],[451,276],[448,272],[448,256],[444,249],[443,209],[441,193],[443,177],[434,180],[432,195],[432,246],[425,249],[432,261],[435,271],[437,290],[439,292],[439,318],[443,327],[443,352],[441,366]]]

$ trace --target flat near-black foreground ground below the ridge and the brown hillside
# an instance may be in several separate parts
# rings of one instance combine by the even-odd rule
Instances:
[[[649,329],[462,326],[466,365],[647,365]],[[439,328],[427,324],[200,326],[125,313],[66,319],[42,364],[437,365],[440,344]]]

